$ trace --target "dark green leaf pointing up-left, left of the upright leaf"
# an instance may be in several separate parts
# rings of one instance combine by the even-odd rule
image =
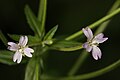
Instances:
[[[41,30],[39,28],[40,22],[37,20],[36,16],[28,5],[25,6],[25,15],[30,28],[41,38]]]

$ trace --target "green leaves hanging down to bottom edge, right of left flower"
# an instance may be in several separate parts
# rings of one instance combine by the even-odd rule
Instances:
[[[46,51],[47,49],[45,48],[35,48],[35,53],[26,67],[25,80],[40,80],[41,68],[43,68],[43,61],[42,57],[39,54],[46,53]]]

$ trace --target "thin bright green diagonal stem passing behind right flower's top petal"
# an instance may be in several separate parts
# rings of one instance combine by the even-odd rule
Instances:
[[[108,14],[107,16],[101,18],[100,20],[96,21],[95,23],[89,25],[90,28],[95,28],[97,27],[99,24],[103,23],[104,21],[110,19],[111,17],[115,16],[116,14],[120,13],[120,8],[116,9],[115,11],[113,11],[112,13]],[[73,35],[67,37],[65,40],[72,40],[78,36],[80,36],[83,32],[80,30],[76,33],[74,33]]]

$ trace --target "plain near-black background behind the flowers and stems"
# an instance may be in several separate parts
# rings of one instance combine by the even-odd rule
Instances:
[[[46,31],[56,24],[59,25],[56,37],[71,35],[83,27],[104,17],[115,0],[48,0]],[[29,4],[37,15],[39,0],[0,0],[0,29],[10,34],[31,34],[24,6]],[[120,14],[114,16],[104,34],[109,40],[100,45],[103,52],[101,60],[95,61],[90,55],[77,74],[101,69],[120,58]],[[3,44],[2,42],[0,42]],[[0,45],[4,48],[3,45]],[[47,74],[65,76],[81,50],[75,52],[50,51],[45,60]],[[23,80],[26,64],[8,66],[0,64],[0,80]],[[117,68],[91,80],[120,80],[120,69]]]

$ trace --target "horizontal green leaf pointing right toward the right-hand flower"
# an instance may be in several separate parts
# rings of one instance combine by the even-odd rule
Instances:
[[[67,40],[57,41],[51,45],[51,49],[56,49],[59,51],[75,51],[82,49],[82,43]]]

